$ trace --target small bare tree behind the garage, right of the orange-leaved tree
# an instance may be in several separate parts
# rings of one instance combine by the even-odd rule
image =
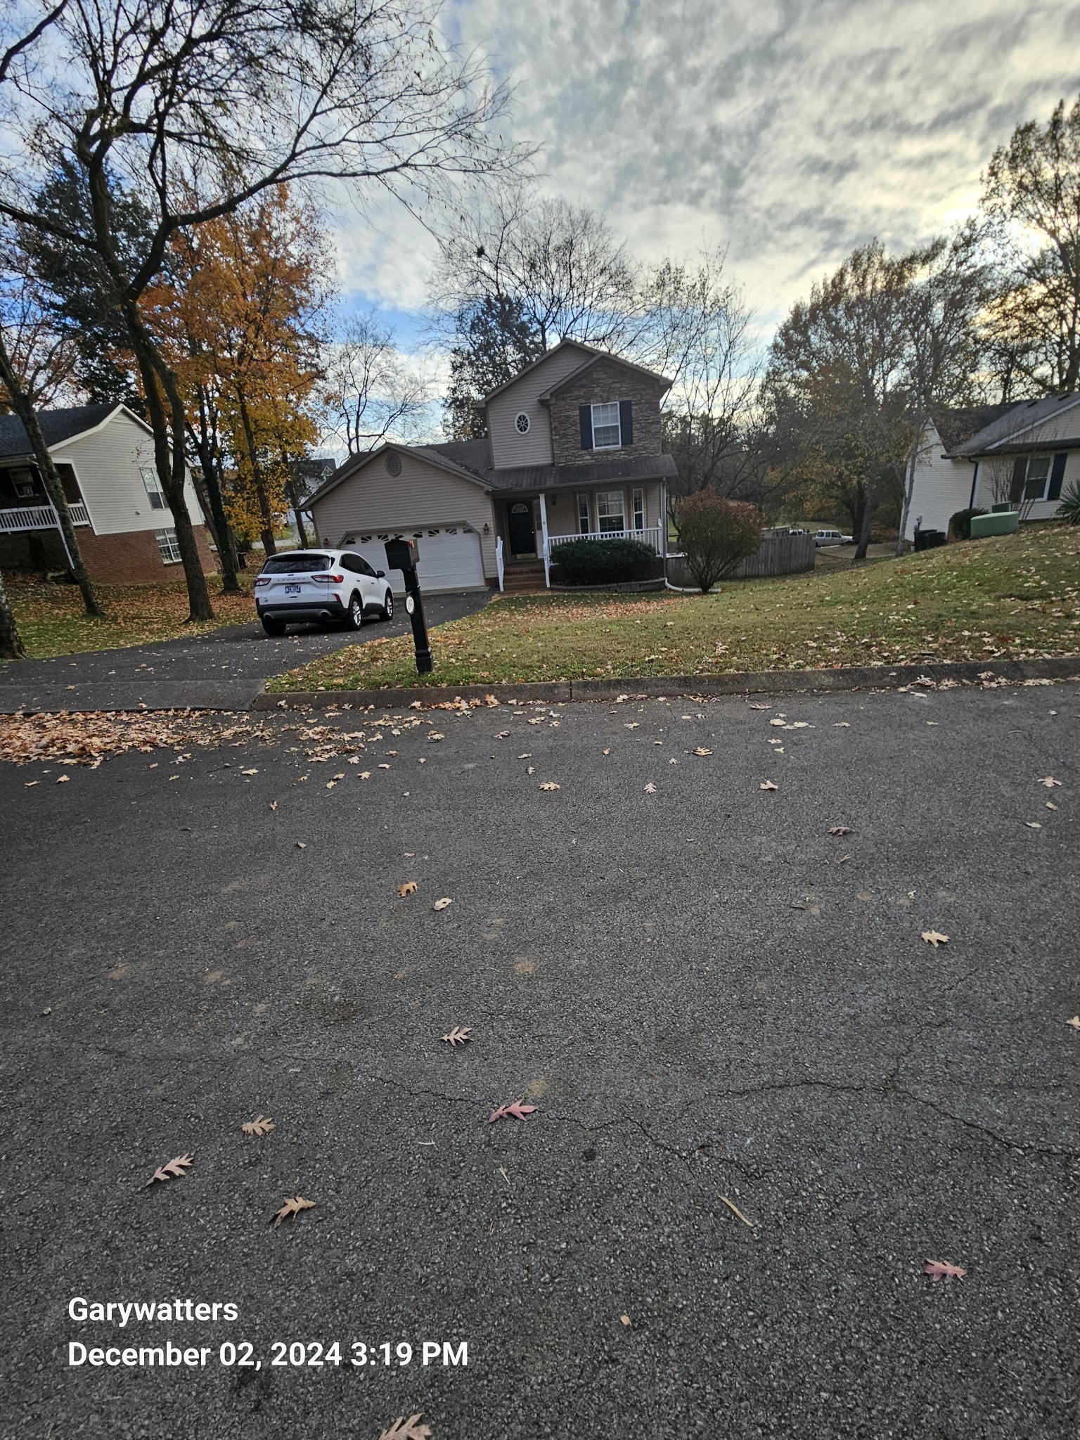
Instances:
[[[393,331],[374,314],[354,315],[331,347],[323,402],[348,454],[393,435],[413,439],[423,429],[431,390],[403,361]]]

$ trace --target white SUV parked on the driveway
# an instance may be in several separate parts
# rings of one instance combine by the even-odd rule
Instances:
[[[268,556],[255,580],[255,613],[268,635],[304,621],[360,629],[366,615],[393,618],[393,595],[386,570],[354,550],[288,550]]]

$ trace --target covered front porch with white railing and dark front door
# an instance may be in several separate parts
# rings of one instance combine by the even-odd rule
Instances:
[[[550,589],[552,564],[570,540],[639,540],[667,554],[667,487],[662,480],[618,485],[560,487],[491,497],[495,516],[498,585],[508,570]]]

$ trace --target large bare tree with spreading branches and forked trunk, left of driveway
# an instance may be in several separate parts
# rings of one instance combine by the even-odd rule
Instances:
[[[436,32],[438,0],[69,0],[48,32],[9,48],[9,158],[0,215],[104,265],[145,392],[161,488],[176,523],[193,619],[212,615],[184,498],[184,405],[140,301],[173,236],[269,186],[380,186],[409,203],[452,176],[490,176],[520,154],[494,132],[507,92]],[[82,223],[40,203],[72,167]],[[118,193],[151,216],[125,264]]]

